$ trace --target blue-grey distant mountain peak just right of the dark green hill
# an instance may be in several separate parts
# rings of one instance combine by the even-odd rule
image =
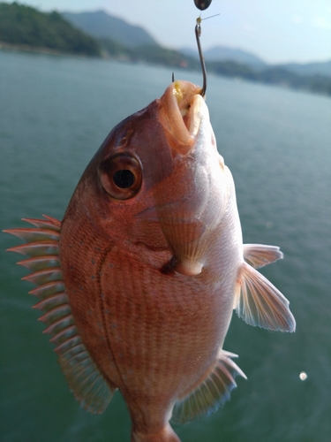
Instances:
[[[117,19],[105,11],[95,12],[62,12],[67,19],[82,31],[96,38],[108,38],[127,48],[138,46],[159,46],[154,38],[143,27],[129,25],[123,19]]]

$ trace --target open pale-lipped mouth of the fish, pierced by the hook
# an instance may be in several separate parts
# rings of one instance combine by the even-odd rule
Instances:
[[[159,120],[169,146],[182,155],[191,152],[199,132],[206,106],[201,90],[189,81],[177,80],[169,85],[159,101]]]

